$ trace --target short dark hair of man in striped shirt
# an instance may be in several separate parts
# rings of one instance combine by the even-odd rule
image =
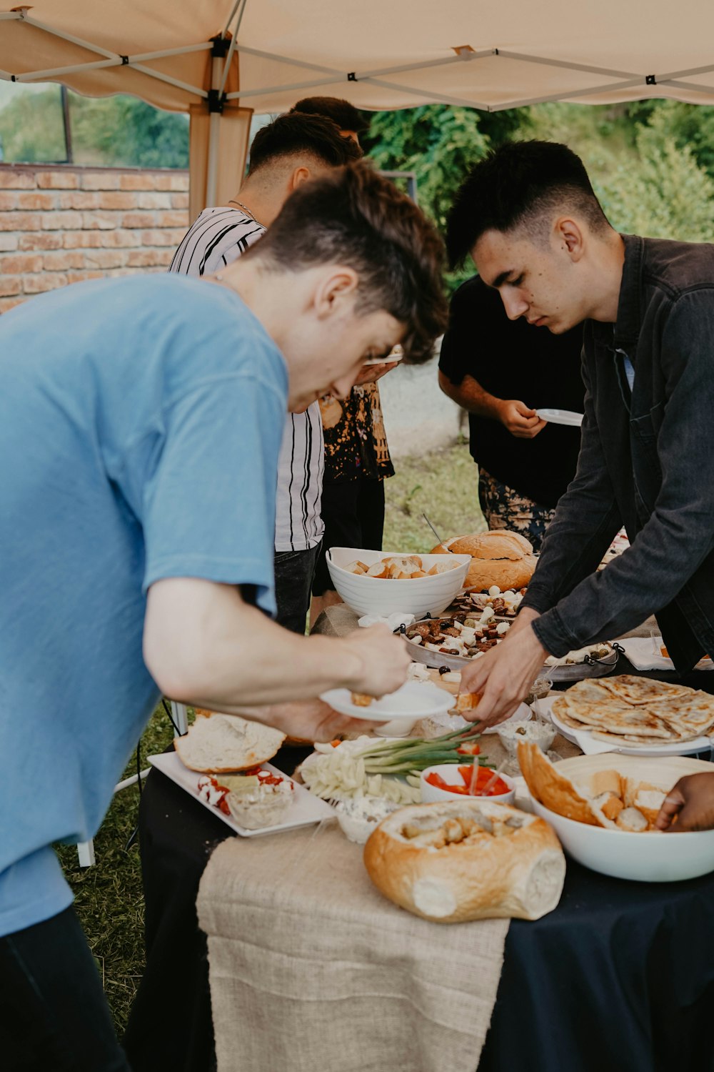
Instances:
[[[315,157],[330,167],[339,167],[362,155],[359,146],[343,137],[331,119],[286,113],[261,128],[254,137],[248,175],[280,157],[300,153]]]

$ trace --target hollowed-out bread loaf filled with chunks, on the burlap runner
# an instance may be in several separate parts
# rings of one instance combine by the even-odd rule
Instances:
[[[422,919],[537,920],[558,904],[560,843],[543,819],[507,804],[413,804],[383,819],[364,850],[373,882]]]

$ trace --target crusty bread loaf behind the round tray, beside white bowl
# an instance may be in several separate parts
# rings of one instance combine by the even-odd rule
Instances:
[[[464,581],[466,589],[487,592],[496,584],[505,592],[526,587],[535,569],[533,547],[520,533],[506,528],[473,536],[455,536],[432,548],[431,554],[470,554],[472,562]]]

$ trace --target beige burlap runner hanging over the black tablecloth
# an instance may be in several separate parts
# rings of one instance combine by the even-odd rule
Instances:
[[[397,908],[334,820],[224,842],[197,909],[218,1072],[474,1072],[508,920]]]

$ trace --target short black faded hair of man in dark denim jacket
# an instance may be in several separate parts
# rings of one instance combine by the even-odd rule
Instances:
[[[446,221],[452,267],[464,263],[486,230],[527,233],[541,242],[552,217],[577,210],[593,230],[608,226],[579,157],[557,142],[504,142],[471,169]]]

